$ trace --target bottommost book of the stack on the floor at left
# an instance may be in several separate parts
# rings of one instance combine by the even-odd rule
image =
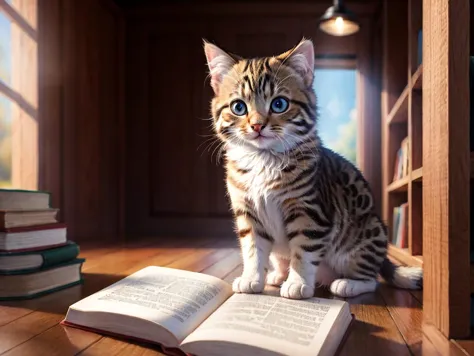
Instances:
[[[0,275],[0,301],[36,298],[81,284],[84,261],[75,258],[35,272]]]

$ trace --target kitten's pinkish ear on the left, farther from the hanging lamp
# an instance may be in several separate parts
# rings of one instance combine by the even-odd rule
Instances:
[[[204,53],[211,75],[211,87],[214,93],[218,95],[224,76],[237,62],[230,54],[206,40],[204,40]]]

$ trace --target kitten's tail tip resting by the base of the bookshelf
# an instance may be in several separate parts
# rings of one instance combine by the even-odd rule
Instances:
[[[423,288],[423,269],[421,267],[397,266],[385,258],[380,274],[388,283],[399,288]]]

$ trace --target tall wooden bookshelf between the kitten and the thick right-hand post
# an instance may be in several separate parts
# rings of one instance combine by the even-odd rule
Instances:
[[[422,0],[384,2],[382,77],[383,218],[393,234],[393,211],[408,203],[407,248],[390,243],[388,253],[403,264],[423,265],[423,66],[418,64]],[[393,180],[397,152],[408,138],[408,169]]]

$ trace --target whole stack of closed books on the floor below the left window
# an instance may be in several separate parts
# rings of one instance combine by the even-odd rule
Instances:
[[[48,192],[0,189],[0,300],[28,299],[82,282],[84,259],[67,240]]]

